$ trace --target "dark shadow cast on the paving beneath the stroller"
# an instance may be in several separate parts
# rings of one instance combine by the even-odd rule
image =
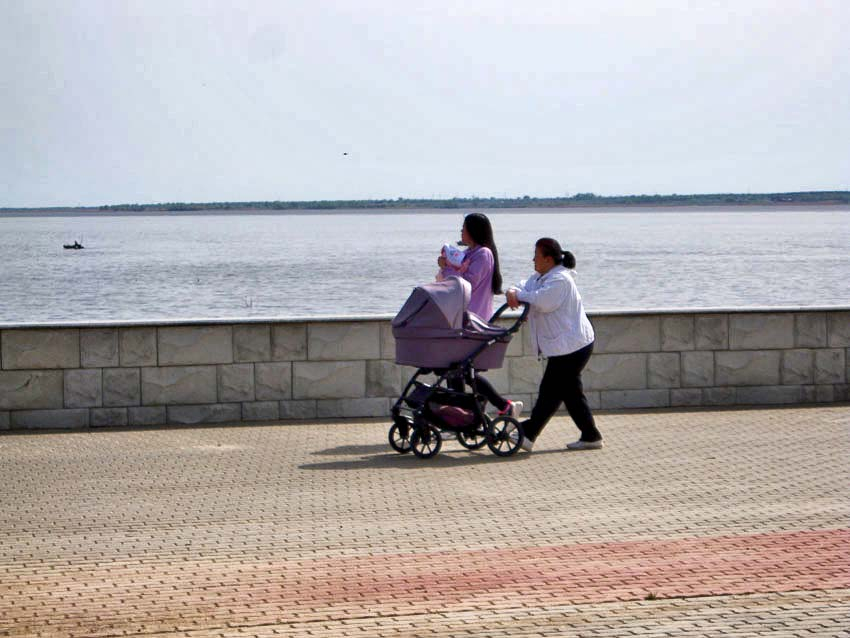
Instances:
[[[480,451],[470,451],[465,449],[443,450],[436,456],[430,459],[420,459],[412,452],[407,454],[399,454],[388,450],[387,445],[364,445],[364,446],[340,446],[340,448],[330,448],[320,452],[313,452],[317,455],[332,455],[332,454],[350,454],[351,452],[338,452],[341,448],[349,449],[368,449],[373,451],[375,448],[387,450],[384,454],[369,454],[362,456],[359,459],[348,459],[345,461],[326,461],[323,463],[305,463],[299,465],[299,470],[366,470],[366,469],[387,469],[394,468],[400,470],[420,470],[428,469],[446,469],[451,467],[463,467],[466,465],[480,465],[482,463],[521,463],[525,459],[531,458],[530,454],[522,452],[513,456],[496,456],[486,448]],[[358,453],[358,452],[354,452]]]

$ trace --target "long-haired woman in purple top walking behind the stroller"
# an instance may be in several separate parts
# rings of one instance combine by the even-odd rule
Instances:
[[[460,268],[448,263],[442,255],[437,259],[439,277],[462,277],[472,285],[469,311],[489,321],[493,316],[493,295],[502,294],[502,273],[499,270],[499,251],[493,240],[493,227],[487,215],[470,213],[463,220],[460,239],[467,246]],[[477,378],[478,391],[499,411],[517,418],[522,413],[522,401],[508,401],[502,397],[480,374]],[[453,389],[463,391],[463,381],[453,382]]]

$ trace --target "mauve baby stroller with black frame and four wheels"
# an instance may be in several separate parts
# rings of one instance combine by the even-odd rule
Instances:
[[[485,322],[467,311],[471,286],[459,277],[424,284],[413,290],[392,322],[396,363],[418,368],[392,408],[390,446],[419,458],[440,451],[443,434],[454,435],[469,450],[487,445],[498,456],[510,456],[523,442],[522,426],[510,416],[491,418],[478,393],[477,373],[501,368],[511,337],[528,315],[528,306],[509,328],[493,325],[503,305]],[[420,379],[434,373],[433,383]],[[470,392],[451,388],[465,382]]]

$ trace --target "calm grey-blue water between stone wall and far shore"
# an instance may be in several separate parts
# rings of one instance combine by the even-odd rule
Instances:
[[[534,241],[590,310],[850,303],[850,209],[486,211],[506,282]],[[393,314],[461,212],[0,217],[0,322]],[[82,238],[85,250],[63,250]]]

